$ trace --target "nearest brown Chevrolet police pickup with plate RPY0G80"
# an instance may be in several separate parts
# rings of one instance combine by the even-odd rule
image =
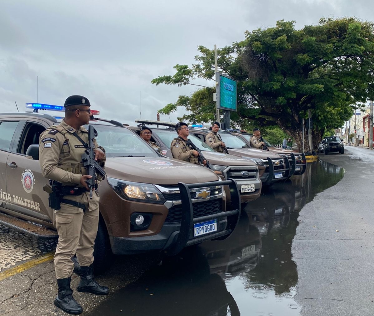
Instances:
[[[0,114],[0,223],[38,239],[58,238],[55,213],[43,191],[48,179],[38,160],[39,135],[55,124],[49,114]],[[96,271],[108,266],[110,251],[175,254],[232,233],[241,204],[234,180],[221,181],[207,168],[156,153],[119,122],[93,119],[90,124],[107,156],[106,177],[98,188]],[[226,209],[224,185],[232,192],[231,209]]]

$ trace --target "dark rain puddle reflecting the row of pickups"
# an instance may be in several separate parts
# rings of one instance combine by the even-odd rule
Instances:
[[[299,315],[291,254],[298,212],[343,174],[325,162],[308,165],[248,203],[228,239],[164,257],[89,315]]]

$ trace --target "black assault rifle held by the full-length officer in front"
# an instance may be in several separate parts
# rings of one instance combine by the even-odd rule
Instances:
[[[82,154],[83,167],[86,168],[87,174],[91,175],[92,178],[87,179],[86,183],[90,190],[90,199],[92,199],[92,190],[97,189],[97,176],[96,172],[102,177],[105,176],[104,168],[102,168],[98,162],[95,160],[93,138],[97,136],[97,132],[92,125],[88,126],[88,147],[86,147],[85,152]]]

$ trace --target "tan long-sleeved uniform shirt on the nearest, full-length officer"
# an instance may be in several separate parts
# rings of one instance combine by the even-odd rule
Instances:
[[[86,174],[86,168],[82,163],[85,146],[73,135],[75,131],[88,143],[88,131],[82,126],[76,130],[62,120],[60,125],[52,125],[46,129],[39,138],[39,162],[45,178],[61,182],[62,185],[82,187],[80,177]],[[98,148],[95,139],[93,142],[95,148]],[[104,162],[105,159],[102,164]],[[99,195],[96,191],[92,193],[92,200],[89,199],[89,192],[64,198],[88,204],[89,211],[99,207]]]

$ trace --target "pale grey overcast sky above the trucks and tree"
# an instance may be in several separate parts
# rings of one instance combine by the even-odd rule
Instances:
[[[230,45],[280,19],[302,28],[321,17],[373,15],[370,0],[0,0],[0,112],[79,94],[101,117],[133,125],[141,109],[142,119],[156,120],[196,87],[151,80],[191,65],[198,45]]]

